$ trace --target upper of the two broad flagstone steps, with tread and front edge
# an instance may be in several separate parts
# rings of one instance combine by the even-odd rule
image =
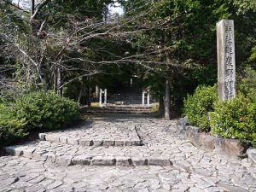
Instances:
[[[39,133],[39,139],[83,147],[143,145],[135,125],[111,121],[108,124],[102,121],[84,121],[67,130]]]

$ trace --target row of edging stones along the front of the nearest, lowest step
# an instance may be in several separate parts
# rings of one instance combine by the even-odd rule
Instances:
[[[60,166],[172,166],[172,161],[162,157],[128,157],[128,156],[99,156],[99,155],[61,155],[46,151],[36,151],[32,148],[13,146],[5,148],[10,155],[23,156],[36,160],[56,163]]]

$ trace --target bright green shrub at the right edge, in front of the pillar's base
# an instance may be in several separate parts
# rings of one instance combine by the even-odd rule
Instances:
[[[226,102],[216,102],[210,114],[212,134],[218,137],[236,138],[256,146],[256,96],[238,95]]]

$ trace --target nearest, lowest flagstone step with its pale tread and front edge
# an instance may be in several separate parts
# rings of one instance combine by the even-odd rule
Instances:
[[[162,156],[158,148],[152,146],[93,148],[36,141],[10,146],[5,150],[8,154],[48,161],[60,166],[172,166],[168,153]]]

